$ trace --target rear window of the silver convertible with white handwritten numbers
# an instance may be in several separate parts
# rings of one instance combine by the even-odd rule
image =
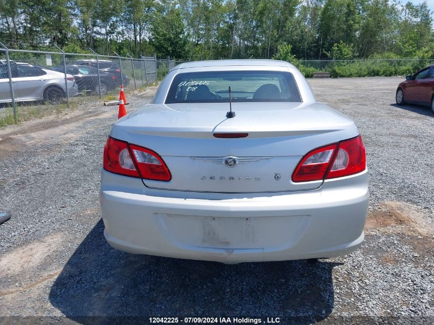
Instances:
[[[301,102],[290,72],[207,71],[179,73],[167,94],[166,103]]]

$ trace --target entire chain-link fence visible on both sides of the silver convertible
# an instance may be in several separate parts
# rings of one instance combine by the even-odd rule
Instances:
[[[64,53],[8,49],[0,43],[0,126],[61,113],[98,100],[116,100],[126,90],[162,80],[169,70],[188,61],[169,57]],[[332,78],[411,74],[432,63],[420,59],[306,60],[293,64],[311,78],[330,72]]]

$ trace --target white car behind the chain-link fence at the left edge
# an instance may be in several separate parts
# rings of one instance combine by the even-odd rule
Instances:
[[[47,101],[57,104],[66,98],[65,74],[26,63],[10,64],[15,102]],[[67,74],[69,96],[77,96],[78,85]],[[0,63],[0,103],[11,103],[8,67]]]

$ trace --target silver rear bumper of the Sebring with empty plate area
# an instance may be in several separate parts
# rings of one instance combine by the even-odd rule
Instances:
[[[150,190],[103,170],[100,200],[105,238],[121,251],[239,263],[356,250],[369,191],[366,171],[316,190],[230,195]]]

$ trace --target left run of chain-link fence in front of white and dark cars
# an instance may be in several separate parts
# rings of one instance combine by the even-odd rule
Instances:
[[[155,54],[132,58],[0,45],[0,126],[114,100],[121,85],[128,92],[158,80]]]

